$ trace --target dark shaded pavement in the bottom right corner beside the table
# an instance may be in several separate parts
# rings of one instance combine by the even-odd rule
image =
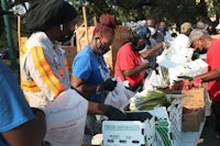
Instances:
[[[215,120],[212,116],[206,117],[205,127],[198,143],[198,146],[220,146],[220,139],[217,139],[215,132]]]

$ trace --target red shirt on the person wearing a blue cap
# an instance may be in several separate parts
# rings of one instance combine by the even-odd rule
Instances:
[[[131,43],[127,43],[117,53],[117,61],[114,66],[114,77],[119,77],[122,81],[124,78],[122,76],[123,70],[132,69],[136,66],[143,65],[141,61],[139,52],[133,52]],[[125,77],[125,80],[129,80],[130,86],[135,86],[144,79],[145,70],[135,75]]]

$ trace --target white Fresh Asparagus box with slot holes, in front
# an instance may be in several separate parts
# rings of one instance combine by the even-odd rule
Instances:
[[[155,119],[141,121],[105,121],[105,146],[150,146],[155,141]]]

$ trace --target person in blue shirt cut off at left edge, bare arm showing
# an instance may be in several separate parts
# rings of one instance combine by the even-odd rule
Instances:
[[[0,10],[0,15],[8,13]],[[0,88],[0,146],[41,146],[46,132],[44,112],[31,110],[12,70],[2,60]]]

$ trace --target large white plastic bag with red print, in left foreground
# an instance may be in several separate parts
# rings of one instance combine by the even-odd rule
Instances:
[[[44,109],[47,126],[44,141],[53,146],[80,146],[87,109],[88,101],[75,90],[62,92]]]

